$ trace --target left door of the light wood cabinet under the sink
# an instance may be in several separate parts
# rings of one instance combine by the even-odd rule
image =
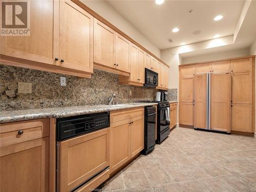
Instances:
[[[110,127],[110,172],[130,159],[130,119],[118,121]]]

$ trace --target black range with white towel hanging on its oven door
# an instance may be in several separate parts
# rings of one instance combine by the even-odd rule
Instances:
[[[157,105],[157,140],[156,143],[160,144],[165,140],[170,133],[170,104],[168,101],[151,101],[143,100],[138,102],[152,102],[158,103]]]

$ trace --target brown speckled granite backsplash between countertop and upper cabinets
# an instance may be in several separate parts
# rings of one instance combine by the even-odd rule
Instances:
[[[106,104],[113,93],[120,103],[153,100],[157,91],[120,85],[118,75],[99,70],[94,70],[91,79],[4,65],[0,73],[1,110]],[[66,77],[66,87],[60,86],[60,76]],[[19,94],[18,82],[31,82],[32,94]]]

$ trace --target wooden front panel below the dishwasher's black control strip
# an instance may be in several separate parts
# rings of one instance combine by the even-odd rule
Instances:
[[[60,142],[59,189],[70,191],[109,166],[110,129]]]

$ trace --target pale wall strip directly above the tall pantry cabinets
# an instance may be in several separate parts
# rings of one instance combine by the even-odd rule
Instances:
[[[212,54],[197,55],[192,57],[182,57],[182,64],[219,60],[219,59],[228,59],[228,58],[234,58],[234,57],[243,57],[248,55],[250,55],[250,49],[245,48],[245,49],[223,51],[223,52],[212,53]]]

